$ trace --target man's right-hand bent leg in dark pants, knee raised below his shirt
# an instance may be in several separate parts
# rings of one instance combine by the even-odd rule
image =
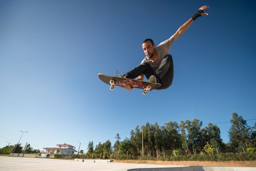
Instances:
[[[171,55],[166,55],[156,70],[156,77],[160,80],[161,86],[157,89],[166,89],[172,84],[173,80],[173,61]]]

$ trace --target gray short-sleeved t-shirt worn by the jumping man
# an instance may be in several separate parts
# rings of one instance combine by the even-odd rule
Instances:
[[[164,59],[164,57],[169,54],[169,51],[171,50],[171,45],[172,45],[173,41],[174,41],[174,37],[171,36],[169,39],[160,43],[155,48],[156,53],[158,53],[158,61],[157,62],[154,62],[153,60],[151,60],[149,57],[146,56],[144,58],[144,60],[142,60],[141,64],[149,63],[151,68],[155,72],[159,68],[159,66],[162,63],[162,60]]]

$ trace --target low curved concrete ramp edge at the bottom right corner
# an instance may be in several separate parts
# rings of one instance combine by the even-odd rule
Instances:
[[[202,167],[202,166],[188,166],[188,167],[179,167],[179,168],[129,169],[127,171],[256,171],[256,168],[249,168],[249,167]]]

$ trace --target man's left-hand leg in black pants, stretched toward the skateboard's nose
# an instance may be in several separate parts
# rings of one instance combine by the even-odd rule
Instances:
[[[149,79],[151,75],[154,75],[154,71],[149,63],[144,63],[136,66],[135,68],[127,72],[124,76],[130,79],[135,79],[142,74],[144,74],[147,79]]]

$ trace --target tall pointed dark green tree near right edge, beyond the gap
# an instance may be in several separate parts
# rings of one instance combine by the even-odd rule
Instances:
[[[246,120],[237,113],[233,113],[230,120],[231,127],[229,129],[230,144],[232,148],[242,149],[245,152],[247,147],[250,147],[250,132],[251,128],[247,126]]]

